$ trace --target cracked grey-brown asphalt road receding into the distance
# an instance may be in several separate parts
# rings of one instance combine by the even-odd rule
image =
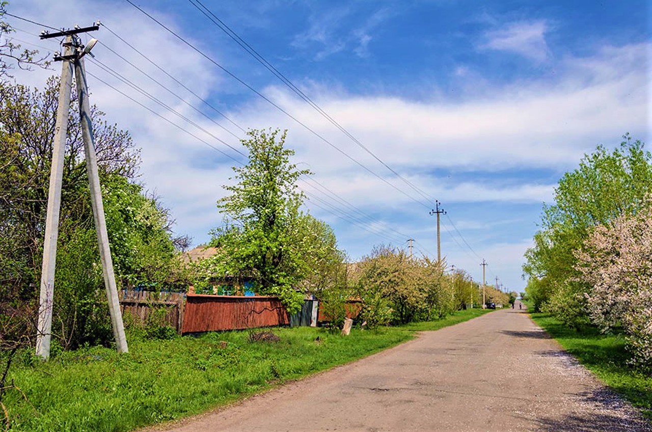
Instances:
[[[504,309],[183,420],[194,431],[652,431],[524,311]]]

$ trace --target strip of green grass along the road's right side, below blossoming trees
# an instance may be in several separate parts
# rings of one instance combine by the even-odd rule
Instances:
[[[623,335],[604,335],[596,328],[576,332],[545,313],[530,314],[562,347],[597,375],[604,384],[643,410],[652,420],[652,377],[627,365]]]

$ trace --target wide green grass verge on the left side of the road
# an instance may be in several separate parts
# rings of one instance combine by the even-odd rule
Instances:
[[[22,390],[3,397],[12,431],[129,431],[225,405],[335,365],[352,362],[484,313],[459,311],[441,320],[349,337],[316,328],[274,328],[277,343],[250,343],[248,332],[167,340],[131,339],[130,352],[91,347],[47,363],[28,353],[10,378]]]

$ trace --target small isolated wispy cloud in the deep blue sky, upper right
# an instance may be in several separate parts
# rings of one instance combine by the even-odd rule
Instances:
[[[543,21],[511,22],[484,33],[479,48],[514,52],[542,63],[550,57],[546,43],[548,24]]]

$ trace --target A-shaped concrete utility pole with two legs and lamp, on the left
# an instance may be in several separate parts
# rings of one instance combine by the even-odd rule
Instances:
[[[90,54],[97,40],[91,39],[85,46],[77,35],[100,28],[96,22],[91,27],[58,31],[56,33],[43,32],[40,39],[65,37],[63,42],[63,55],[57,53],[55,61],[63,62],[61,71],[61,85],[59,86],[59,106],[55,123],[55,137],[52,150],[52,168],[50,171],[50,189],[48,192],[48,213],[46,216],[46,230],[43,247],[43,263],[41,274],[40,298],[38,303],[37,348],[36,354],[44,359],[50,357],[50,342],[52,340],[52,305],[54,293],[54,274],[57,260],[57,238],[59,236],[59,214],[61,211],[61,184],[63,183],[63,159],[65,155],[66,134],[68,129],[68,112],[70,107],[70,91],[72,89],[72,72],[74,70],[77,84],[77,93],[80,106],[80,122],[82,123],[82,138],[86,157],[86,170],[89,176],[91,191],[91,204],[93,206],[93,219],[102,261],[104,286],[109,302],[113,336],[119,352],[127,352],[125,327],[123,325],[118,300],[113,262],[109,247],[106,221],[104,220],[104,205],[100,191],[97,157],[93,140],[93,125],[91,124],[91,110],[88,100],[88,86],[82,57]],[[90,54],[91,57],[93,54]]]

